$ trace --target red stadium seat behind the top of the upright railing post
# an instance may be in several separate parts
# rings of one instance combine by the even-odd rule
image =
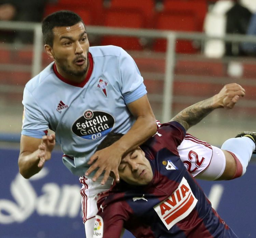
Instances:
[[[155,29],[173,31],[196,31],[198,22],[193,13],[190,12],[164,12],[159,13],[155,20]],[[155,51],[166,51],[166,40],[157,39],[154,46]],[[178,40],[176,52],[195,53],[191,41]]]

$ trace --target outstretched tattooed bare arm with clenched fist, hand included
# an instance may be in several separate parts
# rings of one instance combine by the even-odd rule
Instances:
[[[177,121],[186,129],[201,121],[216,108],[231,109],[240,97],[245,95],[245,90],[236,83],[226,84],[218,94],[211,98],[195,103],[178,113],[171,121]]]

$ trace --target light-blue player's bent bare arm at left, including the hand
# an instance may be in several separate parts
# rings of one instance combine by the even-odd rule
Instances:
[[[55,146],[55,135],[43,136],[37,139],[22,135],[20,138],[20,154],[18,166],[20,174],[29,179],[38,173],[46,160],[51,158]]]

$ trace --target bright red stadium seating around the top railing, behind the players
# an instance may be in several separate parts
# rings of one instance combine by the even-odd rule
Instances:
[[[155,0],[59,0],[55,4],[47,4],[45,15],[67,9],[81,15],[87,25],[202,31],[207,13],[207,0],[163,0],[161,12],[158,12],[159,9],[156,10],[155,4]],[[145,45],[135,37],[104,36],[101,43],[117,44],[126,50],[142,50]],[[166,50],[165,40],[157,39],[152,45],[155,51]],[[176,52],[195,53],[197,49],[191,42],[179,40]]]

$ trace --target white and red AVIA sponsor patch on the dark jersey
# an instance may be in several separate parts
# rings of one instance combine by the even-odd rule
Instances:
[[[187,180],[183,177],[172,195],[154,207],[157,215],[169,230],[177,222],[187,217],[196,206],[195,198]]]

